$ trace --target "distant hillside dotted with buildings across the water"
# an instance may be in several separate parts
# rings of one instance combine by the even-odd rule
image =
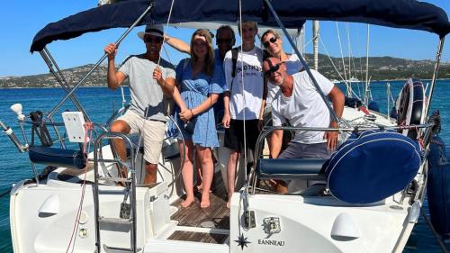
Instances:
[[[305,55],[308,63],[312,66],[312,55]],[[331,58],[338,71],[344,77],[344,68],[342,59]],[[348,74],[348,58],[344,58],[346,64],[347,78],[356,77],[365,80],[365,58],[353,58],[351,62],[351,74]],[[371,80],[392,80],[405,79],[408,77],[419,77],[421,79],[430,79],[433,74],[434,61],[431,60],[411,60],[398,59],[392,57],[371,57],[369,58],[369,76]],[[92,68],[92,64],[76,68],[67,68],[63,70],[67,82],[74,86],[85,73]],[[362,70],[361,70],[362,69]],[[328,56],[319,55],[319,71],[329,79],[341,80],[338,72]],[[438,78],[450,78],[450,63],[442,63],[439,69]],[[26,77],[0,77],[0,87],[54,87],[58,82],[51,74],[41,74]],[[83,86],[106,86],[106,68],[100,66],[94,73],[87,78]]]

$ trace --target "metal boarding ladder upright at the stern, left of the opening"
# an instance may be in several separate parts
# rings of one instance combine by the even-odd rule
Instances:
[[[133,147],[131,140],[124,134],[115,132],[106,132],[99,136],[94,143],[94,212],[95,212],[95,252],[139,252],[141,248],[136,247],[136,170],[134,161],[134,149],[130,149],[130,167],[121,161],[117,155],[114,155],[114,159],[99,158],[98,152],[102,149],[102,140],[113,140],[121,139],[127,141],[130,147]],[[112,142],[112,141],[111,141]],[[115,152],[112,152],[113,154]],[[98,173],[98,166],[100,163],[115,163],[119,167],[128,167],[129,174],[128,178],[122,177],[111,177],[111,176],[100,176]],[[108,194],[99,191],[99,182],[117,182],[124,183],[125,189],[123,191],[123,202],[121,203],[121,211],[119,213],[119,218],[115,217],[103,217],[100,214],[100,195]],[[127,199],[130,197],[130,203],[127,203]],[[108,246],[103,244],[100,237],[100,231],[102,226],[114,226],[115,228],[130,228],[130,248],[118,248]]]

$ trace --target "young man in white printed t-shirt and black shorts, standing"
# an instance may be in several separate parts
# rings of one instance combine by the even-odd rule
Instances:
[[[259,134],[258,125],[262,126],[264,112],[263,50],[255,45],[257,23],[243,22],[239,28],[239,32],[242,33],[240,34],[242,49],[238,50],[236,71],[233,69],[232,50],[227,52],[223,60],[225,80],[229,89],[229,92],[225,93],[223,98],[224,146],[231,149],[227,164],[227,188],[229,192],[227,207],[229,207],[231,194],[234,192],[238,159],[241,153],[245,151],[243,149],[244,140],[248,148],[255,149]]]

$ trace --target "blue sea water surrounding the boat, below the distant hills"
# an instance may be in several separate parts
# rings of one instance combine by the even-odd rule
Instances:
[[[382,113],[386,113],[388,100],[386,97],[387,83],[374,82],[371,86],[372,97],[376,101]],[[392,95],[394,98],[399,94],[404,81],[391,81]],[[427,81],[423,81],[427,86]],[[362,84],[353,84],[353,90],[356,95],[364,93]],[[345,86],[339,85],[342,90]],[[128,88],[124,89],[125,98],[130,100]],[[49,112],[62,99],[65,92],[60,88],[13,88],[0,89],[0,121],[12,127],[22,140],[20,126],[17,123],[15,114],[9,109],[12,104],[23,104],[23,113],[28,114],[31,111]],[[122,97],[120,89],[111,91],[106,87],[79,88],[76,96],[84,106],[85,111],[93,122],[105,122],[113,111],[122,106]],[[432,100],[432,111],[439,110],[442,117],[442,132],[440,136],[450,145],[450,81],[437,81]],[[448,100],[447,100],[448,99]],[[389,102],[392,107],[392,101]],[[67,102],[55,114],[55,121],[62,122],[60,113],[65,110],[76,110],[75,107]],[[31,128],[26,126],[28,138],[30,138]],[[31,141],[31,139],[29,139]],[[21,154],[15,149],[14,144],[5,136],[0,134],[0,194],[8,191],[12,184],[24,178],[32,177],[31,164],[28,154]],[[37,167],[40,171],[42,166]],[[428,203],[424,203],[424,209],[428,213]],[[67,239],[68,243],[69,239]],[[448,246],[448,245],[447,245]],[[11,243],[11,233],[9,228],[9,194],[5,194],[0,199],[0,252],[13,252]],[[441,252],[437,245],[437,240],[428,228],[426,221],[422,216],[419,223],[414,227],[408,244],[404,252]]]

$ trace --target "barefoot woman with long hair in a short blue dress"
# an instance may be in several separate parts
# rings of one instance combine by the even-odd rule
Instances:
[[[182,59],[176,67],[175,103],[179,106],[177,121],[185,140],[178,140],[184,155],[182,175],[186,199],[181,205],[193,203],[193,160],[201,163],[203,191],[200,206],[210,206],[213,175],[211,148],[219,147],[212,104],[216,103],[225,84],[223,69],[214,69],[215,59],[210,32],[199,29],[191,38],[191,59]]]

